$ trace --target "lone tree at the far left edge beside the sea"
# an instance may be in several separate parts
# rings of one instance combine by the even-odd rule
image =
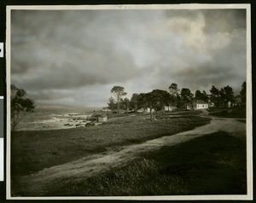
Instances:
[[[26,91],[11,85],[11,131],[15,131],[16,126],[24,118],[26,113],[32,113],[35,103],[26,97]]]

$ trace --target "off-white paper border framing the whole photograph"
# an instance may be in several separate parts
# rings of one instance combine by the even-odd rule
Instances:
[[[22,10],[106,10],[106,9],[246,9],[247,14],[247,194],[243,195],[163,195],[163,196],[98,196],[98,197],[12,197],[10,183],[10,64],[11,64],[11,11]],[[120,4],[120,5],[49,5],[49,6],[7,6],[6,31],[6,84],[7,84],[7,200],[253,200],[253,116],[252,116],[252,55],[251,55],[251,5],[232,4]]]

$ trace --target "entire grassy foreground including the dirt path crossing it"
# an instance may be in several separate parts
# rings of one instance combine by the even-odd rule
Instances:
[[[151,121],[145,116],[137,116],[110,119],[106,125],[90,128],[16,132],[12,135],[12,195],[245,194],[246,125],[236,119],[212,117],[210,124],[209,120],[207,116],[201,118],[190,115],[173,118],[166,116]],[[198,140],[200,136],[207,137],[204,135],[210,138]],[[192,141],[194,138],[198,139]],[[198,146],[196,140],[200,143]],[[170,160],[179,150],[176,146],[182,146],[180,143],[183,142],[187,142],[184,148],[191,148],[191,151],[182,150],[183,159],[180,157],[179,161]],[[189,144],[193,142],[195,145]],[[89,146],[90,149],[86,149]],[[210,150],[210,156],[207,150]],[[193,153],[195,160],[186,155]],[[200,163],[196,160],[199,154],[205,154],[204,159],[198,159]],[[218,159],[215,159],[217,156]],[[22,161],[26,161],[27,167],[20,168],[19,171]],[[162,162],[161,165],[166,163],[166,170],[171,176],[166,176],[165,172],[162,176],[160,171],[163,168],[158,162]],[[181,168],[180,162],[183,162]],[[217,167],[217,170],[212,170],[212,167]],[[188,169],[193,169],[194,172],[191,173]],[[195,176],[197,170],[201,172]],[[131,171],[136,174],[131,174]],[[180,176],[177,176],[177,171]],[[212,177],[212,174],[215,175]],[[228,181],[225,179],[226,175],[229,177]],[[128,182],[125,177],[128,180],[134,179],[134,182]],[[212,186],[207,183],[208,177],[216,180],[211,183]],[[142,185],[151,179],[155,183],[150,183],[149,188],[143,188]],[[183,183],[186,179],[189,183]],[[195,179],[199,180],[198,183]],[[208,187],[201,185],[200,180]],[[235,185],[235,188],[225,185],[230,184],[230,180],[238,181],[241,185]],[[129,183],[130,188],[124,183]],[[227,189],[216,187],[218,184],[225,185]],[[154,188],[153,185],[162,187]]]

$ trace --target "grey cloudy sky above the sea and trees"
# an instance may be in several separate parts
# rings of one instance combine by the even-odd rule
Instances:
[[[37,103],[107,105],[133,93],[246,80],[246,10],[12,10],[11,83]]]

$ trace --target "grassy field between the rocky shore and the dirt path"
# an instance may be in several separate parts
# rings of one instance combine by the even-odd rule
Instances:
[[[126,113],[125,113],[126,114]],[[11,177],[102,153],[108,148],[171,136],[206,125],[210,119],[193,115],[150,120],[148,114],[109,119],[104,125],[55,131],[16,131],[11,135]]]

